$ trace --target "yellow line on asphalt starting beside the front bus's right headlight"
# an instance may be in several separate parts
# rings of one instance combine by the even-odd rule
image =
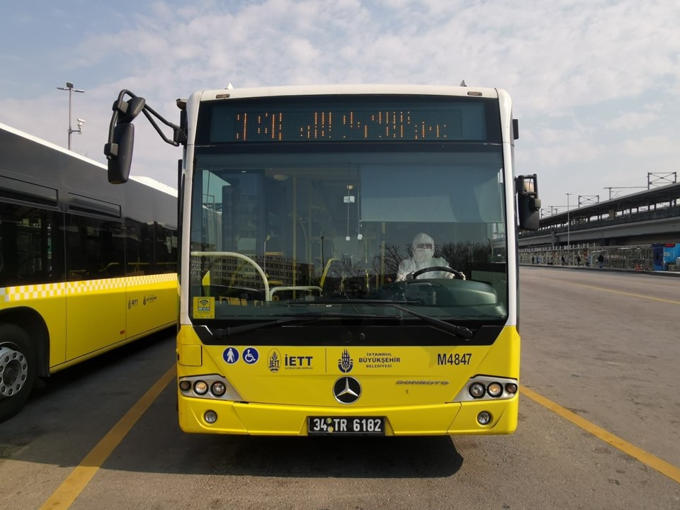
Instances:
[[[613,433],[601,429],[599,426],[592,424],[587,419],[583,419],[578,414],[565,409],[559,404],[555,404],[555,402],[552,400],[538,395],[538,393],[529,390],[528,387],[523,386],[521,387],[520,391],[523,395],[526,395],[533,401],[538,402],[538,404],[541,404],[543,407],[547,407],[550,409],[550,411],[559,414],[562,416],[562,418],[571,421],[574,425],[581,427],[584,429],[584,431],[591,433],[596,438],[599,438],[614,448],[618,448],[618,450],[621,450],[623,453],[640,460],[641,463],[652,467],[663,475],[669,477],[671,480],[675,480],[676,482],[680,483],[680,467],[676,467],[670,463],[667,463],[665,460],[661,460],[655,455],[642,450],[642,448],[638,448],[638,446],[628,443],[628,441],[624,441],[620,437],[614,436]]]

